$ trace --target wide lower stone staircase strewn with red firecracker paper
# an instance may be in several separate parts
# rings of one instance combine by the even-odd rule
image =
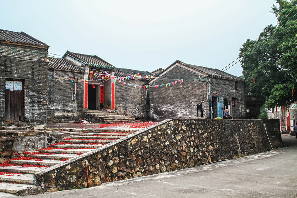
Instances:
[[[0,164],[0,192],[16,195],[41,193],[42,187],[34,185],[35,172],[92,151],[139,129],[99,129],[91,132],[85,132],[84,129],[75,129],[75,132],[68,130],[59,132],[70,133],[71,138],[36,152],[24,152],[25,156]]]

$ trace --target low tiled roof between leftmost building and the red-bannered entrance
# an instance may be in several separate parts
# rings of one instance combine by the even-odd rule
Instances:
[[[64,58],[50,58],[48,69],[84,72],[83,67],[73,65],[71,62],[67,61]]]

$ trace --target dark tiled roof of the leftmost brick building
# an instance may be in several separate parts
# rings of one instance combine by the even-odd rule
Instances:
[[[31,37],[29,34],[26,34],[25,32],[13,32],[2,29],[0,29],[0,41],[49,47],[45,43],[35,39],[34,37]]]

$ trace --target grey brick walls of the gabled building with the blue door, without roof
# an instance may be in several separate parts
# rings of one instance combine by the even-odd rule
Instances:
[[[162,120],[166,118],[197,118],[197,104],[204,100],[204,118],[211,118],[210,99],[207,99],[205,76],[195,73],[181,66],[174,66],[163,76],[170,76],[168,79],[159,78],[150,85],[171,83],[184,78],[182,83],[170,87],[163,85],[161,88],[151,88],[148,91],[148,117],[151,120]],[[194,80],[195,79],[195,80]],[[245,118],[245,83],[216,79],[210,81],[210,93],[212,96],[222,96],[228,99],[230,106],[232,98],[236,98],[236,118]],[[239,103],[238,103],[239,102]],[[199,111],[200,117],[200,111]]]

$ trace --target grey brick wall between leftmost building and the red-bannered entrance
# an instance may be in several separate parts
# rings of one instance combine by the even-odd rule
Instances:
[[[76,86],[76,100],[72,100],[72,83],[69,80],[83,79],[83,74],[48,70],[48,123],[69,122],[81,118],[83,83]]]

